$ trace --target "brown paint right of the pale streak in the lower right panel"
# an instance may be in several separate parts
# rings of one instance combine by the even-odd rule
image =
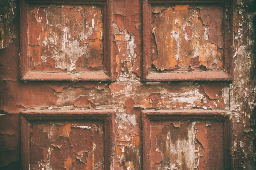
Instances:
[[[196,122],[194,126],[195,147],[198,154],[198,170],[227,169],[224,165],[224,133],[223,122]],[[198,144],[197,144],[198,143]]]

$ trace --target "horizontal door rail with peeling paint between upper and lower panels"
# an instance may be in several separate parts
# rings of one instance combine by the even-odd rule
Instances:
[[[137,107],[224,110],[228,108],[229,99],[227,83],[27,82],[23,84],[15,81],[0,81],[0,88],[0,93],[4,96],[2,103],[5,104],[1,109],[14,113],[25,108],[120,109],[120,112],[124,113],[134,113]],[[207,91],[207,88],[210,90]]]

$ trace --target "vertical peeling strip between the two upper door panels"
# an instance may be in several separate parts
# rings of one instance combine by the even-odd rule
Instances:
[[[140,0],[113,0],[113,77],[142,77]]]

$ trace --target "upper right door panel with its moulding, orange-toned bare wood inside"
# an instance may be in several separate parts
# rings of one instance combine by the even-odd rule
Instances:
[[[144,79],[231,80],[232,31],[225,3],[145,2]]]

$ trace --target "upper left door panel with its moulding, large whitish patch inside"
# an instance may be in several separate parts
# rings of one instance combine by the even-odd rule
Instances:
[[[22,1],[22,79],[109,80],[108,8],[102,3]]]

